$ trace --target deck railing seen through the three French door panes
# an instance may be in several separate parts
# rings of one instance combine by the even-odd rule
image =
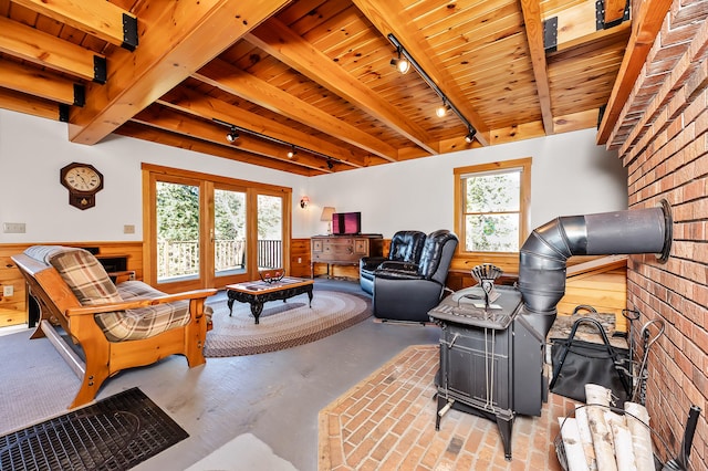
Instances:
[[[219,271],[246,270],[246,241],[217,240],[214,247],[215,268]],[[283,242],[258,241],[258,268],[282,266]],[[199,273],[199,243],[197,241],[157,242],[157,279],[187,276]]]

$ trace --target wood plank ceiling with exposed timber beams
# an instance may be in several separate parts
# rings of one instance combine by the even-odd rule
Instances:
[[[631,24],[618,0],[0,0],[0,107],[314,176],[596,127]]]

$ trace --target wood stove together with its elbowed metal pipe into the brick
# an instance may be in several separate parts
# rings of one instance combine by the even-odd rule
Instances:
[[[493,265],[476,266],[479,285],[428,312],[441,327],[436,429],[451,407],[488,417],[497,421],[510,460],[514,416],[540,416],[548,400],[543,346],[565,293],[568,259],[657,253],[666,262],[671,224],[666,200],[660,208],[556,218],[521,247],[518,290],[496,286],[501,271]]]

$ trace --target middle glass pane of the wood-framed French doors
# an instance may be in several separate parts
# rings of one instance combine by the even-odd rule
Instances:
[[[246,192],[214,190],[215,276],[246,273]]]

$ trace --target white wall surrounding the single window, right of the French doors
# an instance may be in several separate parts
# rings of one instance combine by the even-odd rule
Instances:
[[[627,208],[627,174],[615,151],[586,129],[444,156],[382,165],[309,181],[311,233],[323,233],[321,207],[361,211],[362,231],[391,238],[403,229],[454,229],[456,167],[531,157],[531,229],[558,216]],[[316,216],[316,218],[315,218]]]

